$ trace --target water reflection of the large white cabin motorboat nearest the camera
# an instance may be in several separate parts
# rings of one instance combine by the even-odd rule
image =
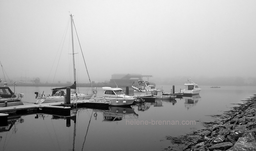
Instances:
[[[103,121],[120,121],[123,118],[138,118],[139,115],[135,113],[132,108],[123,108],[123,107],[116,107],[111,106],[108,110],[103,109],[94,109],[95,113],[93,116],[97,120],[97,112],[101,112],[103,115]]]

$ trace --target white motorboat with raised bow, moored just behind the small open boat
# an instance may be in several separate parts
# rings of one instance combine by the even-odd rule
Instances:
[[[143,96],[151,96],[154,93],[154,90],[156,90],[156,87],[153,85],[150,85],[148,81],[138,81],[138,86],[133,86],[134,89],[133,93],[136,95]]]

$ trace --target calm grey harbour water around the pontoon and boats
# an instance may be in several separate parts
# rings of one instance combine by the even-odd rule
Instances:
[[[234,103],[241,103],[240,100],[253,96],[256,90],[256,87],[210,87],[201,86],[200,96],[194,98],[156,100],[154,103],[134,105],[132,109],[79,109],[76,113],[72,112],[70,118],[47,114],[17,117],[10,120],[8,126],[0,127],[0,150],[160,151],[170,144],[165,136],[184,135],[204,128],[203,122],[214,120],[207,115],[222,114],[235,106]],[[175,86],[176,91],[180,88],[184,86]],[[97,96],[102,95],[101,88],[97,89]],[[171,92],[172,86],[163,85],[163,89],[164,92]],[[24,102],[36,102],[34,92],[51,93],[50,87],[15,87],[15,90],[24,93]],[[80,92],[85,90],[86,87],[80,88]],[[122,119],[104,120],[104,117],[113,115]],[[176,121],[176,125],[168,121]],[[181,124],[182,121],[185,125]],[[189,124],[190,121],[196,122]]]

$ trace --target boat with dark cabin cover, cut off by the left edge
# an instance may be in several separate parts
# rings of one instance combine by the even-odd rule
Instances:
[[[24,94],[14,94],[7,83],[0,87],[0,107],[23,105],[21,98]]]

